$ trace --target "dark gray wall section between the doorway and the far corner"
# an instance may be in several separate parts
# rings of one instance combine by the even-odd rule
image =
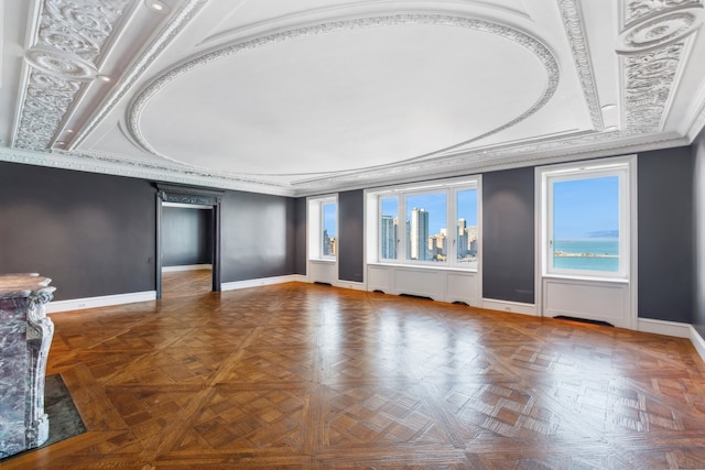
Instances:
[[[296,272],[294,199],[226,192],[221,209],[224,283]]]

